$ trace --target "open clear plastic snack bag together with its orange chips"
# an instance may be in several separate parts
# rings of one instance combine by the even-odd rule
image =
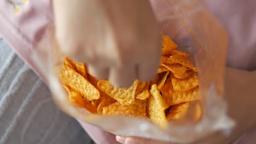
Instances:
[[[61,53],[53,27],[33,53],[56,104],[117,135],[193,142],[234,122],[223,99],[227,37],[200,1],[153,0],[162,25],[158,74],[130,88],[98,80]]]

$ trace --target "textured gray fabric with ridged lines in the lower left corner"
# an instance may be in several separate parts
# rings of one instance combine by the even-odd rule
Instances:
[[[0,38],[0,144],[93,143],[48,87]]]

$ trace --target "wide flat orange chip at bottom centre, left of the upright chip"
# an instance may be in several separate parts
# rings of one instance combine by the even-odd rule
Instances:
[[[117,101],[109,106],[103,107],[102,114],[146,117],[146,106],[146,100],[136,100],[131,105],[122,105]]]

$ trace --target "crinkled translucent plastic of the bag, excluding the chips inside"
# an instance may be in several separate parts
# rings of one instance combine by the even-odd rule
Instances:
[[[226,113],[223,98],[227,47],[224,29],[200,1],[152,0],[151,3],[162,25],[162,33],[179,45],[178,50],[190,53],[190,61],[199,71],[199,94],[202,97],[200,121],[169,121],[167,128],[160,128],[146,119],[102,116],[73,106],[59,79],[65,56],[54,40],[53,27],[49,27],[45,38],[34,51],[33,59],[48,82],[56,104],[68,115],[116,135],[184,143],[198,140],[214,131],[228,134],[235,123]]]

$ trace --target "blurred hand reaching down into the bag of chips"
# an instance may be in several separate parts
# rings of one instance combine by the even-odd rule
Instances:
[[[148,0],[54,0],[61,50],[99,79],[129,87],[151,80],[159,66],[161,35]]]

